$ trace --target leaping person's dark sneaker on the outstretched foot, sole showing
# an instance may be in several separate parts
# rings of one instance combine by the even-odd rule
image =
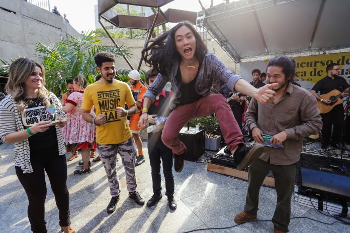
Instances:
[[[234,164],[238,170],[243,170],[259,158],[262,152],[264,152],[264,146],[260,143],[255,143],[250,147],[239,146],[233,154]]]

